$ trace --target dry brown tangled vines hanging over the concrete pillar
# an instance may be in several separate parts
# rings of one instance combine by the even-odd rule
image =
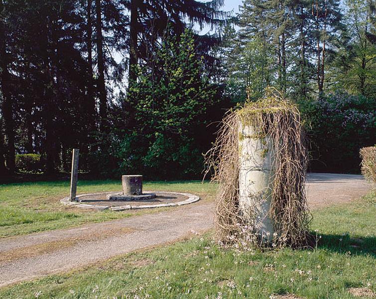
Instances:
[[[312,246],[308,234],[311,220],[305,197],[307,151],[297,107],[275,90],[257,102],[230,111],[223,120],[217,140],[206,155],[212,180],[219,183],[216,197],[216,239],[224,244],[263,246],[252,225],[255,215],[241,216],[239,210],[239,126],[255,128],[255,138],[268,137],[273,144],[273,175],[269,216],[277,233],[274,246]],[[244,227],[251,226],[246,235]]]

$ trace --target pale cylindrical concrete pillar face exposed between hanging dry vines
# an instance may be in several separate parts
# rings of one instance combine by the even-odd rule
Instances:
[[[239,206],[263,242],[273,238],[269,217],[273,147],[269,137],[259,137],[251,126],[239,126]],[[247,219],[248,218],[248,219]]]

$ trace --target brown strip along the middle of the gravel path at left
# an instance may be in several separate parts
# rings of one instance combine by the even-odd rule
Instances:
[[[81,242],[96,241],[106,239],[113,236],[121,236],[134,231],[128,227],[109,229],[100,232],[92,232],[85,235],[80,235],[71,238],[65,238],[52,242],[45,242],[31,246],[25,246],[17,249],[12,249],[1,253],[0,263],[10,262],[18,259],[31,258],[38,255],[51,253],[57,250],[66,249],[77,245]]]

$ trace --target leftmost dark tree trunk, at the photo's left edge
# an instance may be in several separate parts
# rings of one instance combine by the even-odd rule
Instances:
[[[0,21],[0,83],[2,93],[2,117],[6,138],[6,166],[10,173],[15,171],[14,121],[10,92],[10,74],[8,71],[8,55],[6,53],[5,24]]]

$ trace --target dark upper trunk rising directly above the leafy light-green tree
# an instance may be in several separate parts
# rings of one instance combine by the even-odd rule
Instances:
[[[137,66],[137,62],[138,62],[138,55],[137,55],[138,5],[139,5],[139,0],[131,0],[128,87],[131,86],[132,82],[135,82],[137,80],[135,67]]]

